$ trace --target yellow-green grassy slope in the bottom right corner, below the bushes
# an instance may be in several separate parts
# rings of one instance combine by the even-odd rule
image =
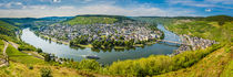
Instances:
[[[225,46],[211,53],[192,67],[155,77],[232,77],[232,70],[233,47]]]

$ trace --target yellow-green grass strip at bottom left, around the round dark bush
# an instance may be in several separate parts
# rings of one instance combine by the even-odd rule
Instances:
[[[21,63],[10,62],[9,67],[0,68],[0,77],[41,77],[40,69],[49,67],[53,77],[82,77],[81,73],[75,69],[48,66],[48,65],[26,65]]]

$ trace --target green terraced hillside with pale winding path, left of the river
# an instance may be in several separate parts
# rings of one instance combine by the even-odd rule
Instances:
[[[41,56],[45,53],[38,53],[36,47],[17,38],[14,32],[19,28],[3,21],[0,21],[0,77],[41,77],[48,74],[55,77],[90,76],[89,73],[45,62]],[[8,66],[3,66],[4,61],[8,61]]]

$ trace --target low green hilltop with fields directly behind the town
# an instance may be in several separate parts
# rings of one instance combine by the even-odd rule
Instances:
[[[120,15],[77,15],[71,20],[64,21],[64,24],[112,24],[122,20],[131,20]]]

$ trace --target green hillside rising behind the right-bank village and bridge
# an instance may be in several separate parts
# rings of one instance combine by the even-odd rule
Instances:
[[[215,25],[215,26],[213,26]],[[217,26],[214,22],[193,21],[182,24],[166,25],[169,30],[178,34],[189,34],[192,36],[215,40],[219,42],[231,42],[232,22],[226,22],[222,26]]]

